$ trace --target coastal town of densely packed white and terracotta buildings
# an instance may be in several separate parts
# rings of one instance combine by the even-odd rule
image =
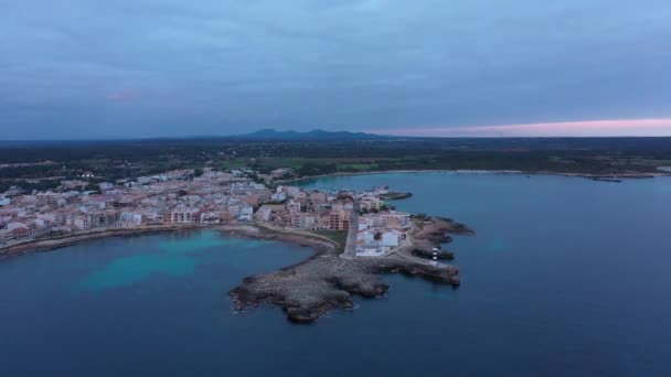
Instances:
[[[316,234],[338,233],[344,257],[384,257],[411,245],[411,215],[364,192],[321,192],[281,184],[292,175],[253,169],[175,170],[136,180],[89,183],[62,181],[56,190],[0,195],[0,247],[110,229],[152,229],[217,224],[253,224]],[[97,190],[90,190],[97,188]]]

